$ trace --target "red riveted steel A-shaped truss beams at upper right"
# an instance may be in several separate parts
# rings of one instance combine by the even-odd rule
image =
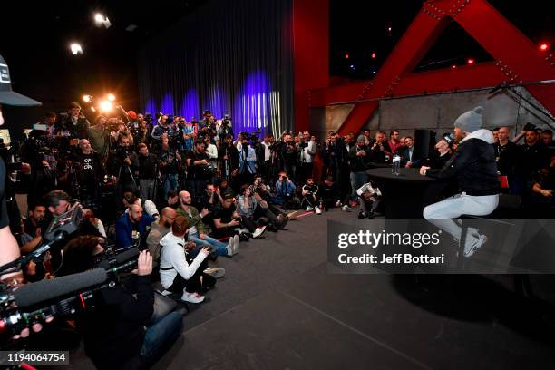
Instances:
[[[454,20],[495,59],[457,69],[412,73],[445,26]],[[555,58],[538,50],[486,0],[428,0],[372,81],[313,90],[309,106],[355,102],[340,133],[359,131],[378,107],[378,100],[410,95],[527,83],[555,78]],[[316,86],[315,86],[316,87]],[[531,85],[529,92],[551,113],[555,86]],[[364,102],[365,100],[375,100]],[[298,108],[298,106],[297,106]]]

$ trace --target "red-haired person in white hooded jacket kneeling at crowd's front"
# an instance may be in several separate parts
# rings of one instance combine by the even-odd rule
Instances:
[[[160,279],[161,285],[171,293],[183,293],[181,300],[200,303],[204,296],[200,292],[216,285],[216,278],[205,274],[208,268],[206,258],[210,248],[201,248],[194,259],[190,258],[188,248],[194,242],[187,242],[189,224],[183,216],[177,217],[171,225],[171,232],[161,239]]]

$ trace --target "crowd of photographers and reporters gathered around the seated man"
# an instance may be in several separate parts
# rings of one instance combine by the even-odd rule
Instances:
[[[282,232],[291,210],[319,215],[332,208],[359,208],[359,219],[372,219],[381,212],[383,200],[366,170],[398,157],[404,168],[432,173],[450,163],[460,145],[453,136],[443,135],[433,151],[418,155],[414,138],[400,137],[398,130],[389,135],[365,130],[344,137],[329,132],[321,142],[308,131],[258,138],[256,132],[234,134],[228,116],[217,120],[209,111],[199,122],[186,122],[165,113],[151,117],[121,106],[117,110],[112,117],[96,117],[93,124],[77,103],[71,103],[68,112],[46,113],[16,151],[4,152],[6,161],[22,162],[6,193],[20,198],[26,194],[26,208],[21,202],[16,207],[15,201],[9,207],[10,229],[23,255],[48,239],[53,220],[75,207],[83,209],[77,233],[55,243],[43,264],[31,261],[24,267],[29,282],[93,268],[109,250],[142,250],[138,274],[132,287],[126,287],[135,298],[121,291],[105,297],[136,318],[132,324],[112,320],[110,325],[116,332],[134,333],[126,348],[142,357],[157,352],[161,341],[180,328],[175,316],[152,324],[152,332],[137,324],[152,315],[152,286],[143,276],[159,278],[162,295],[178,294],[182,301],[200,303],[225,274],[209,261],[232,258],[241,243],[268,231]],[[501,191],[520,195],[537,218],[550,218],[552,132],[527,125],[512,140],[508,127],[492,135]],[[316,161],[321,167],[316,168]],[[136,309],[130,312],[130,307]],[[89,328],[85,349],[95,364],[111,367],[115,359],[102,352],[105,346],[99,341],[115,346],[119,339],[117,334],[105,336],[99,317],[84,321]],[[147,345],[145,338],[151,336]]]

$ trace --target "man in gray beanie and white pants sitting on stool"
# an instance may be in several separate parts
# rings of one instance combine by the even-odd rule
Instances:
[[[443,169],[423,166],[420,174],[436,179],[456,180],[459,193],[424,208],[424,219],[460,241],[462,229],[453,219],[461,215],[486,216],[497,208],[500,183],[493,149],[493,134],[482,129],[482,107],[464,112],[454,122],[456,151]],[[464,256],[471,257],[487,241],[478,229],[469,228]]]

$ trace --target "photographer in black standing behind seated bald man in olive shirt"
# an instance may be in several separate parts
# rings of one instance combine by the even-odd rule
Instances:
[[[214,169],[211,166],[209,155],[205,150],[205,143],[202,139],[195,141],[192,151],[185,155],[187,167],[187,180],[189,189],[196,199],[200,198],[200,193],[204,190],[207,182],[212,178]]]

